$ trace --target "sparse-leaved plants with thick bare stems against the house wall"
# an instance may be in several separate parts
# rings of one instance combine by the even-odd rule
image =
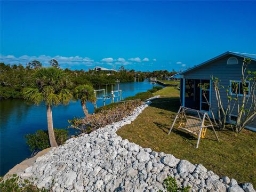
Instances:
[[[251,63],[251,59],[244,58],[242,65],[241,83],[231,81],[231,85],[227,89],[221,85],[220,79],[211,76],[215,97],[217,100],[218,119],[215,118],[211,103],[206,97],[206,91],[210,84],[198,84],[203,91],[203,97],[209,105],[213,122],[220,129],[225,129],[227,118],[230,126],[236,133],[241,132],[246,125],[250,124],[256,118],[256,71],[247,70],[247,66]],[[231,89],[230,89],[231,88]],[[221,100],[220,89],[225,89],[227,94],[226,107]],[[234,123],[231,117],[237,116]]]

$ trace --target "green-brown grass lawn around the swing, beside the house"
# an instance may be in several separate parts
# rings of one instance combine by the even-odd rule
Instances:
[[[238,182],[251,182],[256,186],[256,133],[244,130],[236,134],[232,131],[217,131],[217,142],[211,129],[206,132],[199,148],[197,138],[174,129],[168,131],[180,106],[179,91],[165,87],[155,95],[163,98],[153,100],[135,121],[117,131],[124,139],[129,139],[142,147],[173,154],[194,164],[203,164],[208,170],[219,175],[227,175]],[[176,125],[175,127],[177,127]]]

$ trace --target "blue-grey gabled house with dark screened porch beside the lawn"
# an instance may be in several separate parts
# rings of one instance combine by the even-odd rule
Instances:
[[[221,84],[225,87],[231,85],[231,81],[236,81],[238,83],[241,82],[242,63],[244,57],[252,59],[252,63],[247,67],[247,69],[256,71],[256,54],[230,51],[205,61],[193,68],[182,71],[179,74],[181,78],[180,98],[182,106],[206,111],[210,114],[209,105],[202,95],[202,90],[198,87],[198,84],[200,83],[209,83],[210,87],[206,92],[208,93],[206,97],[211,103],[214,116],[217,117],[217,100],[215,97],[215,91],[212,88],[211,76],[218,77]],[[250,82],[248,82],[248,84],[250,88]],[[241,90],[239,90],[239,92],[240,91]],[[220,94],[223,105],[226,107],[227,104],[225,104],[225,102],[227,103],[227,95],[225,89],[220,89]],[[233,115],[231,118],[236,119],[236,116]],[[256,131],[256,119],[254,119],[246,128]]]

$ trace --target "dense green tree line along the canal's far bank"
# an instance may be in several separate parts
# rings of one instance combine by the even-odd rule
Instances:
[[[57,60],[52,59],[49,61],[49,67],[60,68]],[[26,66],[19,65],[6,65],[0,63],[0,98],[22,98],[21,90],[30,86],[28,77],[34,73],[38,68],[42,68],[43,65],[39,61],[31,61]],[[139,81],[145,80],[145,73],[141,71],[128,70],[123,66],[118,71],[95,71],[95,70],[63,70],[70,78],[72,84],[69,89],[74,89],[77,85],[91,85],[95,89],[99,88],[99,85],[115,84],[115,80],[118,79],[121,82],[133,82],[135,74],[140,74]],[[138,81],[138,79],[137,79]]]

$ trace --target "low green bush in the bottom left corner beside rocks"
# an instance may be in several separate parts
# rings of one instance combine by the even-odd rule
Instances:
[[[2,192],[47,192],[50,189],[39,189],[28,180],[20,180],[17,174],[0,177],[0,191]]]

